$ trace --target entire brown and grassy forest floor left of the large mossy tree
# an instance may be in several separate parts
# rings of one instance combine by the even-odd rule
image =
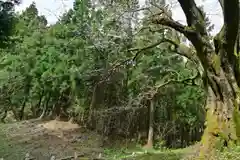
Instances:
[[[56,120],[0,124],[0,158],[4,160],[22,160],[27,153],[36,160],[50,160],[53,155],[61,159],[74,154],[88,157],[85,160],[99,156],[104,159],[157,160],[161,157],[162,160],[179,160],[190,150],[146,153],[141,148],[122,150],[118,146],[114,149],[104,146],[103,137],[96,132]]]

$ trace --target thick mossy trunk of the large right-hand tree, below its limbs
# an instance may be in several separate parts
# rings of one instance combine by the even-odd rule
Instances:
[[[207,46],[204,47],[207,48]],[[207,92],[207,102],[200,159],[204,160],[215,159],[217,150],[236,144],[240,137],[239,86],[233,71],[234,68],[230,65],[229,60],[219,56],[219,53],[227,55],[226,48],[220,47],[219,52],[212,52],[206,58],[208,63],[203,63],[205,68],[203,81]],[[216,63],[218,64],[216,65]]]

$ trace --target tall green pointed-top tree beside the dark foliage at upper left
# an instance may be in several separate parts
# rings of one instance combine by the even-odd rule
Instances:
[[[14,18],[15,29],[10,37],[13,45],[5,48],[5,52],[1,53],[1,69],[3,73],[6,73],[2,77],[1,87],[4,89],[1,92],[1,98],[5,101],[6,97],[11,95],[7,100],[11,107],[6,109],[14,110],[16,119],[22,120],[34,80],[32,71],[34,70],[34,61],[38,57],[35,53],[39,52],[39,48],[36,46],[41,46],[41,34],[46,27],[46,19],[38,16],[34,3],[21,15],[16,15]],[[10,63],[15,65],[9,65]],[[15,82],[17,84],[13,89],[11,83]],[[9,93],[9,91],[11,92]]]

